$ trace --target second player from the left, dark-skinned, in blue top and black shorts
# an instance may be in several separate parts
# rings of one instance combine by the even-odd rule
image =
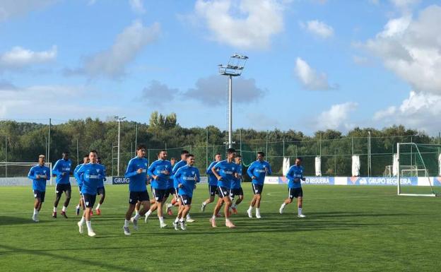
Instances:
[[[67,218],[66,209],[71,201],[71,182],[69,182],[69,175],[71,173],[72,162],[69,160],[69,152],[63,152],[63,158],[55,162],[54,168],[52,169],[52,175],[56,175],[57,187],[55,189],[56,197],[54,202],[54,211],[52,213],[53,218],[57,218],[57,206],[61,199],[63,192],[66,194],[66,201],[64,201],[63,208],[61,209],[61,215]]]

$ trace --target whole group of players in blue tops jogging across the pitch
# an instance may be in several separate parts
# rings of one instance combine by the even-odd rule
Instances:
[[[172,225],[175,230],[186,230],[187,223],[194,222],[190,217],[189,211],[192,208],[193,191],[196,183],[200,181],[199,170],[194,167],[194,155],[189,154],[187,150],[182,150],[181,160],[175,162],[173,158],[167,160],[167,150],[160,150],[158,160],[148,165],[146,157],[146,146],[140,145],[136,148],[136,157],[132,158],[128,165],[125,177],[129,179],[129,208],[124,219],[123,231],[125,235],[131,235],[129,230],[130,223],[134,230],[138,230],[138,222],[141,216],[145,217],[147,223],[148,217],[154,211],[157,211],[160,227],[166,227],[164,222],[164,206],[169,196],[172,201],[165,206],[167,213],[172,214],[171,208],[177,206],[177,217]],[[264,179],[266,175],[271,175],[271,165],[264,160],[263,152],[257,153],[257,160],[249,165],[247,174],[252,179],[252,191],[254,196],[247,209],[249,218],[253,217],[252,210],[255,208],[256,218],[261,218],[260,203],[261,194],[264,188]],[[32,219],[38,222],[38,215],[45,201],[46,182],[50,177],[50,169],[45,166],[45,155],[40,155],[39,164],[30,169],[28,177],[33,180],[33,191],[35,197],[34,213]],[[286,178],[288,179],[288,198],[283,201],[279,213],[283,213],[283,209],[293,201],[298,199],[298,217],[304,218],[302,214],[302,187],[301,181],[305,180],[303,176],[302,159],[297,158],[295,165],[288,170]],[[69,175],[71,173],[71,160],[69,153],[64,152],[63,158],[58,160],[53,169],[52,175],[56,176],[56,199],[54,202],[53,218],[57,218],[57,205],[63,192],[66,194],[66,201],[61,210],[61,215],[67,218],[66,209],[71,199],[71,184]],[[215,161],[206,169],[208,176],[208,193],[209,198],[201,204],[201,211],[205,211],[208,203],[215,200],[216,194],[218,201],[210,218],[212,227],[216,227],[216,218],[224,206],[225,226],[229,228],[235,227],[230,220],[232,213],[237,213],[237,206],[244,199],[242,189],[242,158],[233,148],[227,150],[225,160],[222,160],[220,153],[215,155]],[[91,226],[90,218],[93,215],[93,206],[95,205],[96,196],[100,195],[101,199],[95,212],[100,215],[100,206],[105,199],[105,166],[101,165],[96,150],[90,150],[90,153],[83,158],[83,164],[78,165],[73,170],[73,176],[78,183],[80,191],[80,201],[76,206],[76,214],[79,215],[80,208],[83,208],[83,215],[78,221],[78,230],[83,233],[83,225],[86,223],[88,235],[95,236],[95,232]],[[151,184],[153,199],[150,199],[147,185]],[[237,200],[235,197],[237,196]],[[142,207],[141,207],[142,206]],[[133,213],[135,212],[135,215]]]

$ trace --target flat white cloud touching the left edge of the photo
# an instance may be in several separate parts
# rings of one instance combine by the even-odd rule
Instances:
[[[13,47],[0,54],[0,71],[6,69],[23,69],[33,64],[43,64],[57,58],[57,47],[47,51],[34,52],[23,47]]]

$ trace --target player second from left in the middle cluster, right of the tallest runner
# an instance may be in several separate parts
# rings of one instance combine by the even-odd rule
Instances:
[[[168,179],[170,179],[172,165],[170,164],[170,161],[166,160],[167,150],[161,150],[158,157],[159,159],[148,167],[148,175],[153,178],[151,187],[153,197],[156,201],[155,204],[158,206],[158,219],[160,227],[163,228],[167,227],[167,224],[164,223],[163,200],[165,196],[165,189],[167,189],[167,182]]]

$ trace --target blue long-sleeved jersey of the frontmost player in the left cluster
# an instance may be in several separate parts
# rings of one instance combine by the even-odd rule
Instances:
[[[81,194],[97,194],[98,184],[105,178],[105,167],[98,163],[87,163],[76,172],[83,180]]]

